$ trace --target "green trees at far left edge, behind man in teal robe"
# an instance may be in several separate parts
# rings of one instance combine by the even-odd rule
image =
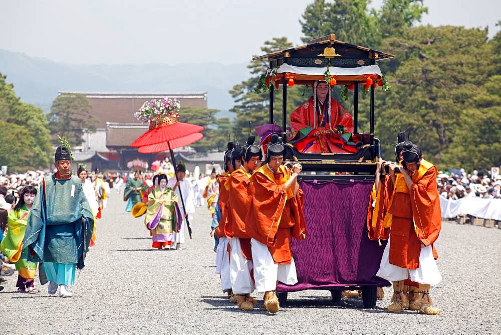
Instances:
[[[47,119],[41,108],[21,102],[6,79],[0,74],[0,162],[14,171],[45,168],[52,151]]]

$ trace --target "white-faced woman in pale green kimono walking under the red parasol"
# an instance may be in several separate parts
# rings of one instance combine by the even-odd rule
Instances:
[[[159,250],[172,245],[172,233],[181,229],[181,212],[177,196],[167,187],[166,175],[158,176],[158,187],[148,195],[144,224],[151,231],[152,247]]]

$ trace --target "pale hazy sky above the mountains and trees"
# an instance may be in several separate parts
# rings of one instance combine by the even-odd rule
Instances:
[[[301,44],[298,19],[311,2],[0,0],[0,49],[75,64],[244,63],[267,39]],[[488,26],[490,36],[499,29],[500,0],[425,5],[423,24]]]

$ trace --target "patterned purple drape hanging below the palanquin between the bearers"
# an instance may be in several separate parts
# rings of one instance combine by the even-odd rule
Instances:
[[[372,181],[302,181],[306,241],[292,239],[298,283],[279,283],[279,292],[345,285],[389,286],[376,277],[384,244],[367,237]]]

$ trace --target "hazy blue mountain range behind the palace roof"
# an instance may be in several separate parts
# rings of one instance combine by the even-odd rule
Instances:
[[[49,112],[58,91],[207,92],[209,108],[224,116],[233,106],[228,90],[248,78],[246,64],[74,65],[0,49],[0,73],[25,102]]]

